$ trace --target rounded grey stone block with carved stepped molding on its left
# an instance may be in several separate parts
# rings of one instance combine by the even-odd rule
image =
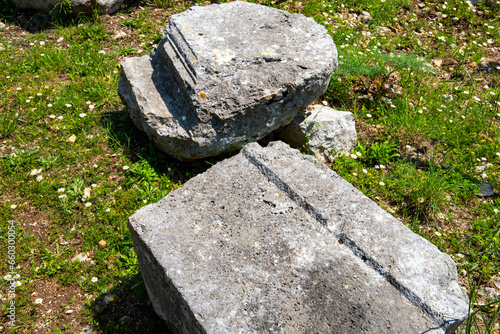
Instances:
[[[290,123],[336,67],[333,40],[313,19],[237,1],[173,15],[157,50],[123,60],[118,93],[162,150],[190,160]]]

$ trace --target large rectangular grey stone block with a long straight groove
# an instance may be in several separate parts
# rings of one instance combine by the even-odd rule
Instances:
[[[452,333],[453,260],[314,158],[247,145],[129,228],[175,333]]]

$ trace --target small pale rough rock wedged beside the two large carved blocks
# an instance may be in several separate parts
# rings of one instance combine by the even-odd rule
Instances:
[[[280,137],[292,147],[306,145],[323,162],[332,162],[336,154],[349,154],[356,146],[354,116],[323,105],[299,112]]]

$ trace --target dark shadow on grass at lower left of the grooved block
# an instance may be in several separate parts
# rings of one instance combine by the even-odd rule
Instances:
[[[101,333],[172,334],[154,312],[140,273],[122,277],[90,304],[90,311]]]

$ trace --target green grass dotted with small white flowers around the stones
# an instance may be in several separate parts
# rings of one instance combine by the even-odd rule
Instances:
[[[359,136],[332,168],[454,258],[471,300],[466,333],[498,333],[499,301],[478,292],[500,276],[500,199],[478,197],[477,185],[500,189],[500,4],[261,3],[311,16],[332,35],[340,65],[322,99],[351,111]],[[0,331],[164,330],[127,218],[217,159],[181,164],[159,152],[129,120],[117,84],[120,60],[149,52],[168,15],[193,4],[151,0],[110,19],[61,7],[29,32],[0,1],[0,244],[15,221],[21,284],[9,327],[0,283]]]

